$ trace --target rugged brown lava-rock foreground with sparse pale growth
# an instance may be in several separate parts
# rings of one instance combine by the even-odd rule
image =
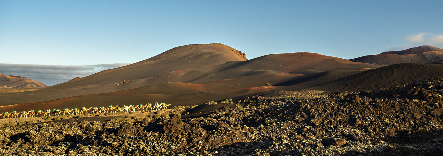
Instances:
[[[441,155],[443,79],[358,93],[279,92],[202,113],[0,128],[0,155]],[[234,102],[235,101],[235,102]]]

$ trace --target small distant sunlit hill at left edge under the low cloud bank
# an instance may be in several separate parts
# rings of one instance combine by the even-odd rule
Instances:
[[[0,88],[45,88],[47,85],[22,76],[0,74]]]

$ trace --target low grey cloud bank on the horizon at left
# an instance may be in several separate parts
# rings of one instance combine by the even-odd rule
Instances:
[[[0,73],[27,77],[48,86],[69,81],[75,77],[84,77],[106,69],[118,68],[132,63],[114,63],[102,65],[26,65],[0,63]]]

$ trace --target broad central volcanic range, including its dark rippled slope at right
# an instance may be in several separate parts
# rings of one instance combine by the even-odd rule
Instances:
[[[392,54],[396,55],[396,54]],[[373,90],[443,77],[440,64],[373,65],[317,53],[270,54],[247,60],[220,43],[170,49],[144,61],[37,91],[0,95],[6,110],[171,103],[184,106],[275,91]],[[234,98],[235,99],[235,98]]]

